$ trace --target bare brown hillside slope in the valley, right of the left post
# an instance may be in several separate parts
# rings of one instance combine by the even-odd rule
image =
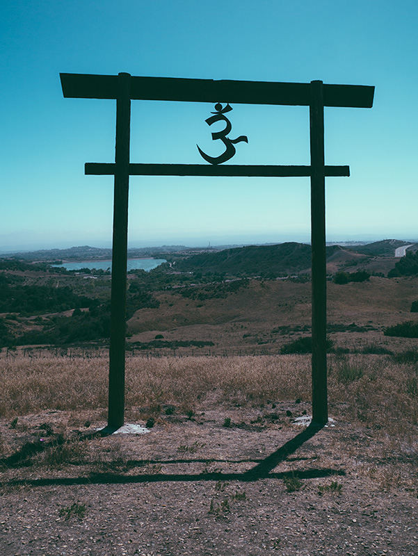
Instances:
[[[164,341],[211,341],[217,348],[244,351],[261,345],[274,352],[289,334],[310,334],[310,282],[245,279],[242,283],[230,292],[202,284],[156,293],[159,308],[140,309],[128,321],[130,341],[147,343],[161,334]],[[387,344],[383,336],[387,326],[416,320],[410,307],[418,298],[418,277],[329,282],[327,289],[329,333],[336,345]],[[397,345],[401,339],[392,338],[391,343]]]

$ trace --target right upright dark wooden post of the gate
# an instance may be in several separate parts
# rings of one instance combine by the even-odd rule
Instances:
[[[323,83],[311,81],[312,423],[328,422]]]

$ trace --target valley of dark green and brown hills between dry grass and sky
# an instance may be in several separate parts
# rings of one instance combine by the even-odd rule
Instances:
[[[407,256],[395,250],[409,245]],[[397,240],[327,247],[328,335],[335,349],[387,345],[402,349],[413,338],[389,338],[387,327],[417,320],[418,275],[387,277],[418,245]],[[106,250],[86,248],[90,259]],[[111,274],[51,266],[54,250],[0,259],[1,347],[108,343]],[[162,248],[161,248],[162,249]],[[277,354],[311,333],[310,245],[225,250],[155,248],[168,262],[150,272],[131,270],[127,286],[127,348],[177,354]],[[401,261],[401,263],[399,262]],[[395,272],[396,273],[396,272]],[[360,346],[360,347],[359,347]],[[370,348],[369,348],[370,349]]]

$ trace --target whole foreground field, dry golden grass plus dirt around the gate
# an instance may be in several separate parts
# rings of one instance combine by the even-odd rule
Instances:
[[[399,339],[328,356],[321,430],[298,424],[309,355],[130,357],[127,422],[149,432],[105,437],[106,359],[1,357],[1,554],[417,554],[418,354]]]

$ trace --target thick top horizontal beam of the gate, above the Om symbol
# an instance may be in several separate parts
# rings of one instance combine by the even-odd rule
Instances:
[[[60,74],[64,97],[115,99],[117,75]],[[324,106],[371,108],[374,87],[323,85]],[[271,81],[214,81],[175,77],[131,76],[131,99],[238,104],[310,105],[310,83]]]

